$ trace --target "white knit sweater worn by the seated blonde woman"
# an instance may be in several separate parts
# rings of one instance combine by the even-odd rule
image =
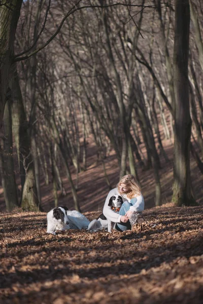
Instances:
[[[129,199],[129,198],[127,198],[126,195],[121,195],[118,192],[118,188],[114,188],[109,192],[109,194],[106,198],[106,201],[105,201],[104,208],[103,208],[104,215],[106,216],[106,218],[108,218],[112,222],[119,223],[121,216],[122,216],[122,215],[116,213],[115,211],[113,211],[111,209],[111,206],[108,206],[110,198],[114,195],[120,195],[123,199],[123,202],[128,201],[129,203],[132,203],[133,206],[130,207],[130,211],[141,213],[144,210],[145,202],[144,202],[144,198],[142,195],[139,195],[136,198]],[[136,202],[134,202],[134,201],[136,201]]]

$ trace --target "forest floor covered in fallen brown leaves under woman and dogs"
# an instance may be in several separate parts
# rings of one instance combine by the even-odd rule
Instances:
[[[132,231],[53,236],[46,213],[0,214],[0,302],[202,303],[202,207],[168,203],[144,215]]]

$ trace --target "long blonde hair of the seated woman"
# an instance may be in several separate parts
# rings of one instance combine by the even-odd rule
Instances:
[[[134,197],[137,197],[141,195],[141,187],[139,182],[137,181],[136,177],[132,174],[124,175],[121,180],[118,182],[118,192],[120,193],[119,186],[121,183],[126,184],[126,186],[129,188],[126,195],[129,199],[132,199]],[[120,193],[121,194],[121,193]]]

